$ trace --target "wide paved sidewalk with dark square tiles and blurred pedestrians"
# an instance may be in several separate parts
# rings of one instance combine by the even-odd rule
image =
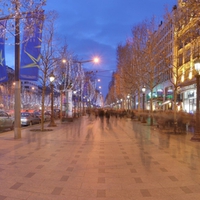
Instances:
[[[130,119],[84,116],[0,133],[0,200],[199,200],[200,143]]]

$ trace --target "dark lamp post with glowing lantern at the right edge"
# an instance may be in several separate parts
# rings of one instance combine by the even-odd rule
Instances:
[[[200,142],[200,116],[199,116],[199,100],[200,100],[200,59],[197,59],[194,62],[194,68],[197,72],[196,74],[196,124],[195,124],[195,133],[191,138],[191,141],[199,141]]]

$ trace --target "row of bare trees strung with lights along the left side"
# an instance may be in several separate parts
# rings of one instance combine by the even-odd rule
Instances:
[[[87,95],[90,96],[90,98],[95,96],[94,90],[91,89],[90,81],[90,78],[94,76],[94,73],[85,75],[80,66],[80,62],[78,62],[77,56],[70,52],[67,41],[63,43],[63,40],[61,41],[59,39],[61,37],[56,35],[55,22],[58,18],[58,14],[55,11],[50,11],[48,13],[44,12],[44,17],[42,19],[35,15],[36,18],[29,20],[29,24],[27,24],[27,13],[37,13],[38,11],[43,10],[45,4],[46,0],[0,1],[1,19],[7,19],[8,21],[5,31],[9,33],[8,37],[14,36],[15,39],[18,39],[18,42],[15,40],[15,43],[13,44],[15,47],[25,42],[23,39],[20,40],[22,38],[22,29],[25,28],[26,33],[31,37],[35,34],[33,29],[34,24],[39,24],[41,20],[44,20],[42,29],[41,58],[38,66],[38,85],[42,88],[42,130],[44,129],[43,119],[46,90],[50,85],[49,75],[52,71],[56,77],[54,83],[54,89],[56,91],[59,90],[64,92],[66,89],[71,87],[72,89],[79,91],[80,95],[83,95],[84,88],[88,88]],[[29,37],[27,36],[27,39],[28,38]],[[10,41],[9,38],[8,41]],[[15,53],[19,52],[15,49]],[[85,82],[87,82],[87,84]]]

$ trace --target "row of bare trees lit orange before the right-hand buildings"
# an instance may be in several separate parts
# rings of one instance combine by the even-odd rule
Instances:
[[[125,45],[118,46],[117,71],[110,83],[107,104],[125,99],[130,94],[133,99],[137,97],[140,105],[141,89],[145,86],[150,95],[151,113],[154,90],[172,86],[173,100],[177,102],[181,83],[191,79],[191,71],[194,78],[195,70],[191,63],[199,56],[200,2],[179,1],[178,7],[174,6],[172,12],[166,8],[164,22],[157,24],[155,17],[152,17],[135,25],[131,39]],[[187,44],[190,47],[181,53]],[[175,121],[176,105],[174,103]]]

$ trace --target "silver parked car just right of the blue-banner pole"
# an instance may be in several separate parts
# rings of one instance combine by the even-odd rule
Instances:
[[[21,113],[21,125],[28,126],[41,123],[41,119],[34,113],[22,112]]]

